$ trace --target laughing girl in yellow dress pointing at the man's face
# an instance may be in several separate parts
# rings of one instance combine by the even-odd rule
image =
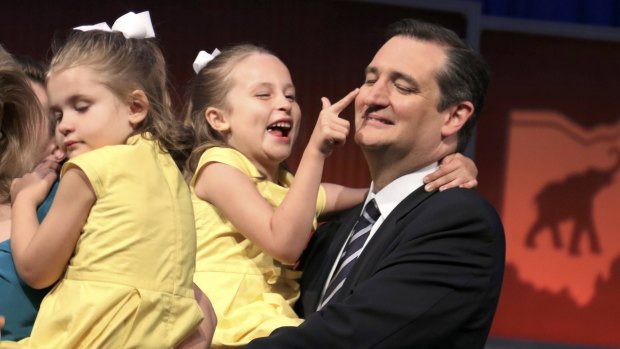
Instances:
[[[236,347],[302,322],[292,309],[300,274],[291,265],[317,216],[354,206],[366,195],[367,189],[321,184],[326,157],[349,132],[349,122],[338,115],[357,89],[333,105],[322,99],[293,180],[282,163],[297,138],[301,112],[282,61],[264,48],[239,45],[195,69],[187,106],[198,141],[188,161],[198,233],[194,281],[217,314],[213,347]],[[448,177],[458,174],[453,185],[475,177],[471,169],[462,173],[473,165],[462,159],[442,169]]]

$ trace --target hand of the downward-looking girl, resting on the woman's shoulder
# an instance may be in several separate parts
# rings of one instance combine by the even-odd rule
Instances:
[[[57,162],[45,160],[32,172],[14,179],[11,183],[11,202],[15,202],[18,195],[36,205],[43,202],[58,177],[58,167]]]

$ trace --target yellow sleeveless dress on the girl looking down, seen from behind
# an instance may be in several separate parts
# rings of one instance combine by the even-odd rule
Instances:
[[[138,135],[66,163],[97,200],[30,338],[6,348],[173,348],[202,319],[192,290],[196,232],[172,158]],[[61,177],[62,178],[62,177]]]

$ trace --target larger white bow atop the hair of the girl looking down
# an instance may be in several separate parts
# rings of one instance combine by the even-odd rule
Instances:
[[[82,25],[73,29],[81,30],[83,32],[91,30],[121,32],[127,39],[146,39],[155,37],[155,31],[153,30],[153,24],[151,23],[149,11],[140,12],[138,14],[133,12],[126,13],[114,22],[112,28],[110,28],[107,23],[102,22],[94,25]]]

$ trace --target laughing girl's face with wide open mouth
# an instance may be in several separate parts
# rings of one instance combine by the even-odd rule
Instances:
[[[301,111],[286,66],[269,54],[253,54],[233,69],[226,96],[228,143],[255,164],[273,168],[291,154]]]

